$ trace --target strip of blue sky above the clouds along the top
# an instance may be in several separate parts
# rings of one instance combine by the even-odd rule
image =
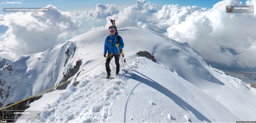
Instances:
[[[94,10],[98,3],[113,3],[118,6],[118,9],[122,10],[127,6],[134,5],[137,0],[16,0],[22,2],[22,4],[14,5],[6,4],[6,1],[13,0],[0,0],[0,9],[3,9],[3,7],[44,7],[52,4],[56,6],[58,10],[76,12]],[[151,2],[158,6],[178,4],[179,6],[199,6],[209,9],[219,1],[220,0],[146,0],[146,2]],[[245,3],[246,0],[240,1]]]

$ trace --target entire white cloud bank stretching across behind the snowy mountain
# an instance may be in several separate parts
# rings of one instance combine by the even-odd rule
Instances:
[[[118,28],[138,26],[180,41],[186,41],[205,60],[225,67],[256,67],[256,11],[254,14],[228,14],[225,6],[241,5],[239,0],[223,0],[212,8],[198,6],[158,6],[137,0],[122,11],[114,4],[97,4],[86,13],[58,11],[49,13],[12,13],[0,15],[0,29],[7,30],[0,43],[0,56],[13,60],[95,29],[108,29],[110,19]],[[248,0],[246,5],[256,5]],[[79,30],[79,31],[78,31]],[[81,31],[82,30],[82,31]],[[247,63],[252,61],[253,66]]]

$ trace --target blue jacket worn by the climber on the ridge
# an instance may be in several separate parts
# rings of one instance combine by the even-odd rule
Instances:
[[[104,45],[104,53],[113,53],[113,54],[117,54],[119,53],[117,47],[116,47],[116,43],[118,42],[117,41],[117,37],[118,37],[118,32],[116,31],[116,34],[115,35],[110,35],[110,38],[109,38],[109,42],[108,42],[108,36],[106,37],[105,39],[105,45]],[[124,48],[124,42],[122,40],[122,37],[120,37],[119,39],[119,50],[123,49]]]

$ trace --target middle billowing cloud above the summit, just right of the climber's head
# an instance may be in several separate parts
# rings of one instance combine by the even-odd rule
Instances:
[[[206,11],[198,6],[164,5],[157,6],[145,0],[137,0],[135,6],[129,6],[118,14],[107,17],[107,20],[115,19],[119,28],[127,26],[139,26],[160,33],[166,32],[170,26],[185,21],[194,11]],[[107,21],[106,29],[111,25]]]

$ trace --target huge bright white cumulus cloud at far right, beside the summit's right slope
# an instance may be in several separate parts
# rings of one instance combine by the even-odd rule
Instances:
[[[183,23],[170,26],[168,36],[187,41],[210,62],[243,68],[249,61],[256,63],[256,15],[226,14],[223,8],[227,5],[241,4],[239,0],[223,0],[207,11],[193,12]]]

